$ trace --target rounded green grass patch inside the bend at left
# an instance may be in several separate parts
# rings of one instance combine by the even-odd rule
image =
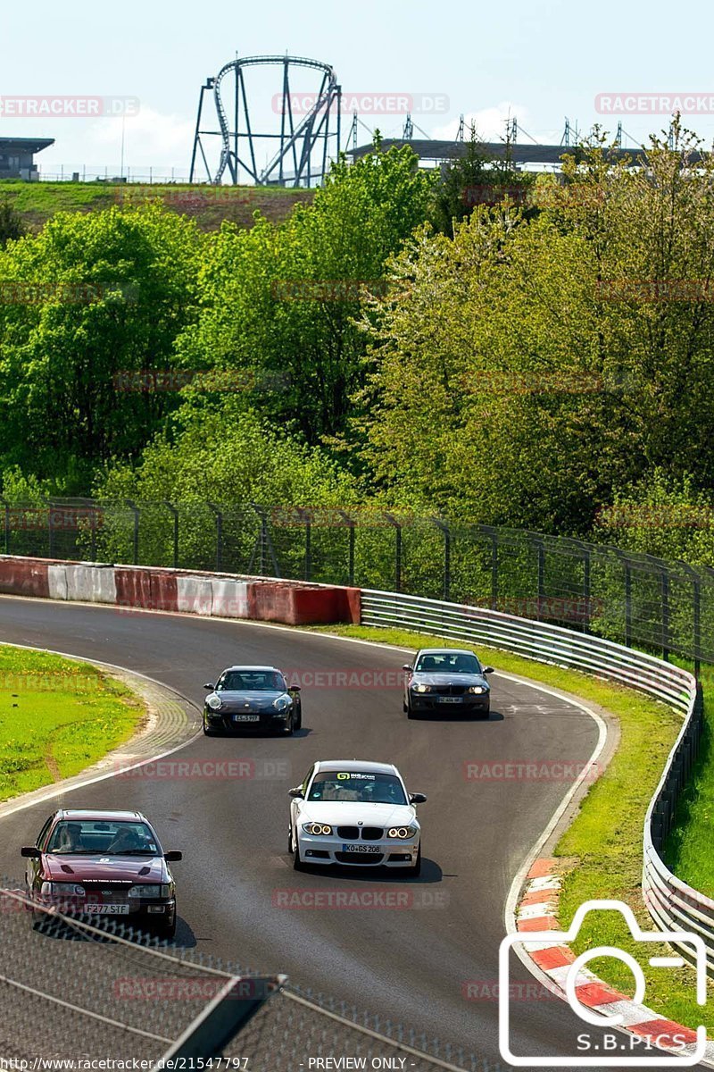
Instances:
[[[143,715],[138,698],[96,667],[0,645],[0,800],[78,774]]]

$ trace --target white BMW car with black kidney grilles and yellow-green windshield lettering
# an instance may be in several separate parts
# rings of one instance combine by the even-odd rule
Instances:
[[[422,831],[416,804],[392,763],[320,760],[290,790],[288,851],[305,864],[398,867],[419,875]]]

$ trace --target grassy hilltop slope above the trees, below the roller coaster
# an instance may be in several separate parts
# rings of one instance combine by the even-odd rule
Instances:
[[[187,183],[19,182],[0,180],[0,198],[7,197],[29,230],[39,230],[56,212],[93,212],[112,205],[136,206],[162,200],[171,211],[196,219],[203,230],[224,220],[253,224],[256,209],[274,223],[298,202],[310,202],[315,191],[285,187],[210,187]]]

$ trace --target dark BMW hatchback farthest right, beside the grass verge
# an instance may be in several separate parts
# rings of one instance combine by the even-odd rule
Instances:
[[[409,718],[427,712],[481,715],[490,712],[490,686],[473,652],[464,649],[422,647],[405,670],[404,710]]]

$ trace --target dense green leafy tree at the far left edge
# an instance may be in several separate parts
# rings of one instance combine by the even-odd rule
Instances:
[[[198,249],[193,224],[149,206],[59,214],[0,252],[1,467],[85,491],[97,463],[158,427],[174,400],[121,376],[170,367]]]

